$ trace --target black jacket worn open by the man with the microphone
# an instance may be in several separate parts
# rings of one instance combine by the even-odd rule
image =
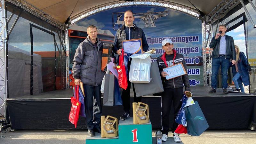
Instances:
[[[220,52],[220,38],[215,39],[215,36],[212,38],[210,48],[213,49],[212,51],[212,58],[218,58]],[[235,50],[235,43],[232,36],[226,35],[226,59],[236,60],[236,50]]]

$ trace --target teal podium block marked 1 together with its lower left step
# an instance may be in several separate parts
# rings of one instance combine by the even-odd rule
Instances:
[[[94,137],[87,136],[86,144],[152,144],[151,122],[147,124],[133,124],[133,117],[125,121],[120,120],[118,124],[118,137],[101,138],[95,132]]]

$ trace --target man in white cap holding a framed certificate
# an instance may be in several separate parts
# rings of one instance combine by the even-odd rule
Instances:
[[[190,91],[189,79],[187,74],[187,65],[182,54],[176,53],[173,48],[172,40],[166,38],[162,42],[162,48],[165,51],[163,55],[157,58],[158,67],[163,80],[164,92],[162,93],[162,140],[166,141],[169,132],[169,114],[173,102],[174,119],[172,125],[173,139],[175,142],[181,142],[179,134],[175,133],[178,124],[175,118],[179,112],[184,93]],[[183,91],[183,84],[185,92]]]

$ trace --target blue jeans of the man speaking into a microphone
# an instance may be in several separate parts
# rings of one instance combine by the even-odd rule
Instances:
[[[212,88],[217,88],[217,76],[221,66],[222,88],[228,87],[229,59],[225,57],[212,58]]]

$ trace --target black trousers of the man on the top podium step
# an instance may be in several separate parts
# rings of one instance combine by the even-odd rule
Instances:
[[[128,112],[130,113],[130,109],[131,109],[131,106],[130,106],[130,90],[131,90],[131,82],[129,81],[129,71],[130,71],[130,66],[131,66],[131,61],[132,60],[129,60],[128,61],[128,76],[127,76],[127,82],[128,82],[128,86],[127,86],[127,89],[122,91],[122,100],[123,100],[123,106],[124,106],[124,111],[125,112]],[[134,102],[141,102],[141,97],[138,97],[136,96],[136,93],[135,93],[135,89],[134,89],[134,85],[132,84],[132,89],[133,89],[133,97],[134,97]]]

